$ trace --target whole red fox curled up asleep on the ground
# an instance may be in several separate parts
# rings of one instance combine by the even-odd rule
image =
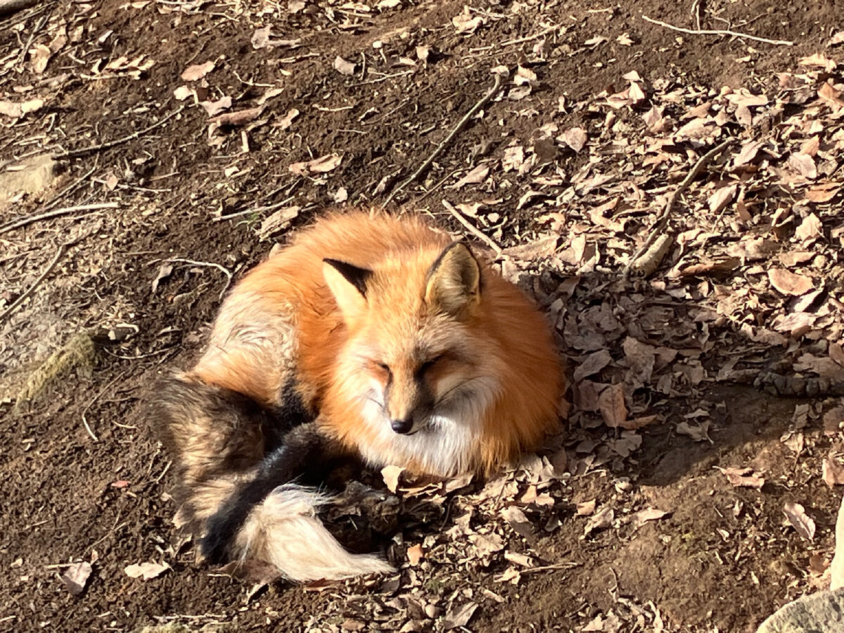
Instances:
[[[333,214],[247,273],[191,371],[163,381],[160,436],[205,560],[293,581],[389,571],[317,518],[335,457],[490,473],[559,425],[544,318],[419,219]]]

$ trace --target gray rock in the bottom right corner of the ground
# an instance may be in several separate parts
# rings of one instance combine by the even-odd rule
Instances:
[[[787,603],[756,633],[844,633],[844,589],[813,593]]]

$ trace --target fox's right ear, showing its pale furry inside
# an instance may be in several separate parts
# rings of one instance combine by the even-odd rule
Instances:
[[[480,300],[480,267],[463,242],[456,241],[440,253],[428,271],[425,302],[461,317]]]

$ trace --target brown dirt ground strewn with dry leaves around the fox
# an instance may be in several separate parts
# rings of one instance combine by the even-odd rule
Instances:
[[[48,0],[2,19],[0,630],[744,632],[824,588],[842,30],[833,0]],[[625,277],[680,187],[657,270]],[[565,430],[491,482],[387,495],[398,516],[363,531],[395,576],[197,565],[144,407],[156,376],[289,230],[385,203],[538,300],[570,359]]]

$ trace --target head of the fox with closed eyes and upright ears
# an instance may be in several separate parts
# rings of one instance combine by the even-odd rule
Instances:
[[[372,269],[326,259],[323,274],[347,327],[345,380],[379,433],[480,419],[497,389],[495,351],[477,327],[482,268],[465,244]]]

